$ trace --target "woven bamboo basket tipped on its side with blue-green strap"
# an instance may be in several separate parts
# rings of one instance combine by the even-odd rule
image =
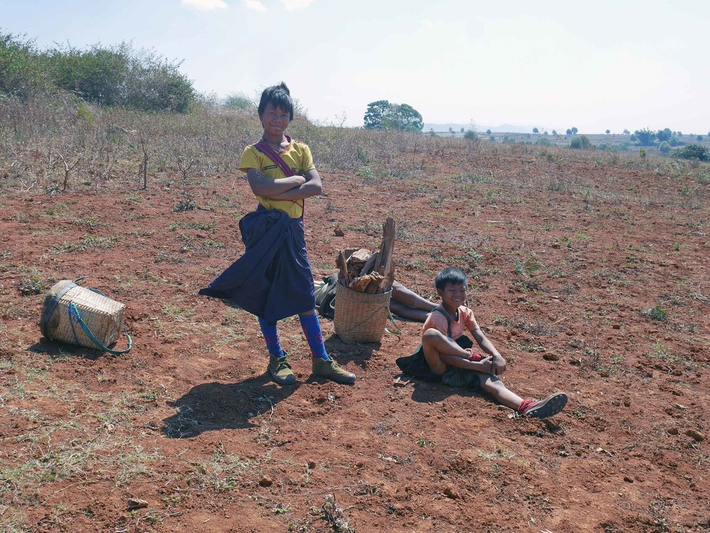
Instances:
[[[74,304],[74,309],[70,309]],[[124,310],[121,302],[88,289],[70,280],[56,283],[45,296],[40,326],[47,339],[99,348],[89,339],[77,321],[74,311],[104,346],[114,343],[124,329]]]

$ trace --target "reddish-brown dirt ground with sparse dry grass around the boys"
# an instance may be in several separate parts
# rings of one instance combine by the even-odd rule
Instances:
[[[407,165],[322,172],[306,213],[315,274],[341,249],[378,246],[393,216],[398,280],[432,296],[438,270],[465,268],[508,387],[564,390],[564,412],[511,418],[477,394],[393,385],[395,358],[418,343],[411,322],[399,339],[347,345],[323,319],[330,353],[358,376],[341,386],[310,378],[286,320],[298,385],[271,383],[256,319],[197,296],[243,251],[237,223],[254,202],[237,176],[204,179],[182,212],[181,191],[157,183],[7,186],[0,529],[706,531],[709,185],[694,176],[707,169],[518,147]],[[41,339],[43,294],[21,295],[33,275],[43,291],[87,275],[124,302],[131,353]],[[328,521],[329,494],[347,524]]]

